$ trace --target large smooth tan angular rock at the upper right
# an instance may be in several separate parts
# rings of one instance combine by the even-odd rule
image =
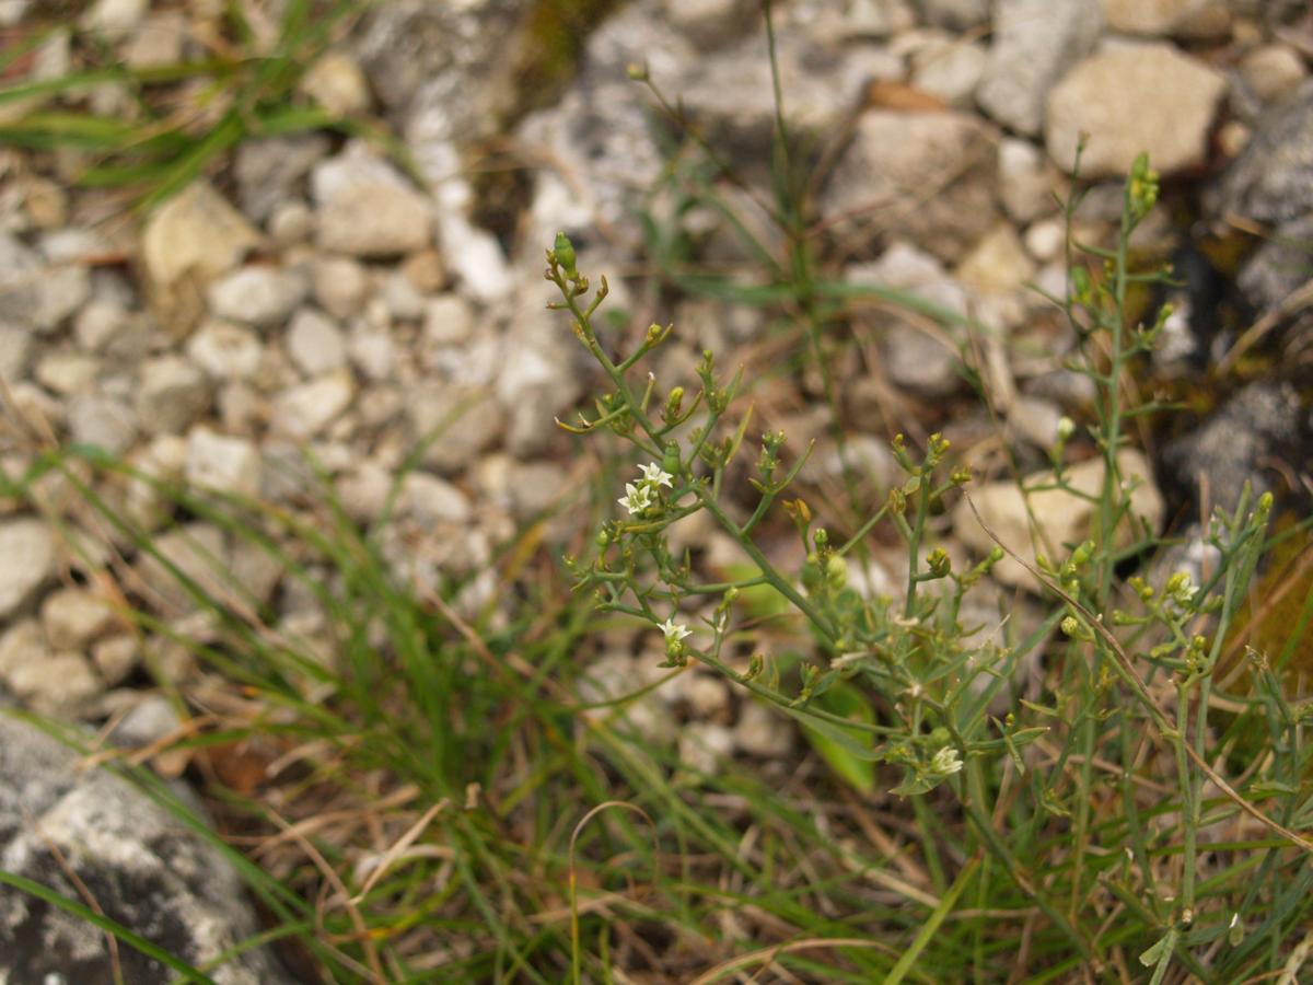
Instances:
[[[1155,171],[1197,167],[1226,79],[1171,45],[1117,45],[1085,59],[1049,95],[1045,144],[1070,171],[1077,143],[1085,177],[1130,171],[1141,151]]]

